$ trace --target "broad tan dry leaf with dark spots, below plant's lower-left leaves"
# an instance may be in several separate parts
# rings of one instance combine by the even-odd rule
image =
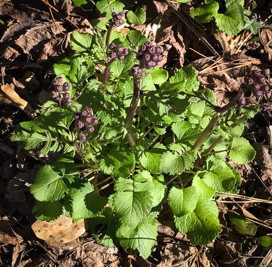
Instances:
[[[74,224],[73,220],[66,215],[60,217],[56,222],[37,220],[31,228],[38,238],[50,246],[68,243],[86,231],[84,220]]]

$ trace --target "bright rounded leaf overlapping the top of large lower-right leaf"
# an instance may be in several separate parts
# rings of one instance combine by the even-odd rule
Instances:
[[[180,217],[191,214],[197,206],[197,189],[194,186],[187,188],[172,187],[168,195],[168,201],[174,215]]]

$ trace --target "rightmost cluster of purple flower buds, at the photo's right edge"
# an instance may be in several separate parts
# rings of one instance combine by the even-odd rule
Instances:
[[[266,104],[267,102],[272,102],[270,86],[266,83],[265,77],[260,71],[255,70],[250,74],[244,76],[244,83],[240,85],[243,90],[243,95],[245,98],[251,97],[252,94],[259,99],[262,96],[261,102]],[[240,99],[237,104],[243,106],[246,104],[246,99]],[[272,110],[271,106],[267,106],[268,110]]]

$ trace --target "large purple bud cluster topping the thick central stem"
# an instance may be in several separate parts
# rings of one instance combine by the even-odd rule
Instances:
[[[141,45],[139,51],[136,55],[139,65],[134,65],[131,69],[133,74],[143,73],[145,69],[151,69],[156,67],[159,62],[162,61],[161,48],[158,46],[153,46],[151,42],[145,42]]]

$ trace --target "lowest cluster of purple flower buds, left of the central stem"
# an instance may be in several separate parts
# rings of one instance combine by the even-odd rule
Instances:
[[[98,124],[98,118],[92,116],[92,109],[86,108],[85,110],[74,113],[75,119],[75,127],[78,130],[78,139],[79,141],[85,141],[86,135],[83,134],[84,131],[87,130],[88,133],[92,133],[94,131],[93,125]]]

